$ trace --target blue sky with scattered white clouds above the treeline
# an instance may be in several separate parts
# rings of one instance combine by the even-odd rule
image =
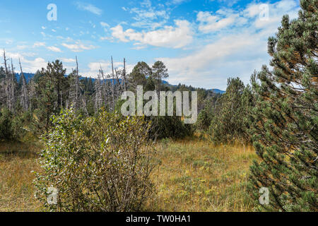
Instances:
[[[225,90],[269,64],[268,37],[299,10],[298,0],[0,1],[0,48],[16,71],[19,58],[28,73],[60,59],[70,73],[77,57],[94,78],[100,66],[110,73],[111,56],[127,71],[160,60],[171,84]]]

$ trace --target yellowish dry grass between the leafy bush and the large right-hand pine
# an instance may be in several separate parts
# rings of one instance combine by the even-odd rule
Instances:
[[[206,141],[163,143],[162,164],[153,181],[158,191],[148,203],[153,211],[252,211],[246,192],[252,147],[215,147]]]

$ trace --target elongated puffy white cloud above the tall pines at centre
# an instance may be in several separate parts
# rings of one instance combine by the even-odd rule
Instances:
[[[181,48],[192,42],[193,31],[187,20],[175,20],[175,27],[165,26],[162,29],[136,32],[133,29],[123,30],[117,25],[112,30],[112,36],[122,42],[135,41],[141,44],[150,44],[155,47]]]

